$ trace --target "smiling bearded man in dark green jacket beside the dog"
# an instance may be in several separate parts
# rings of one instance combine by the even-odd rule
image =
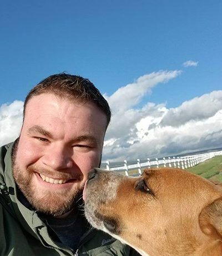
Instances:
[[[81,211],[110,115],[79,76],[49,76],[29,92],[19,138],[0,149],[0,255],[134,254],[90,228]]]

